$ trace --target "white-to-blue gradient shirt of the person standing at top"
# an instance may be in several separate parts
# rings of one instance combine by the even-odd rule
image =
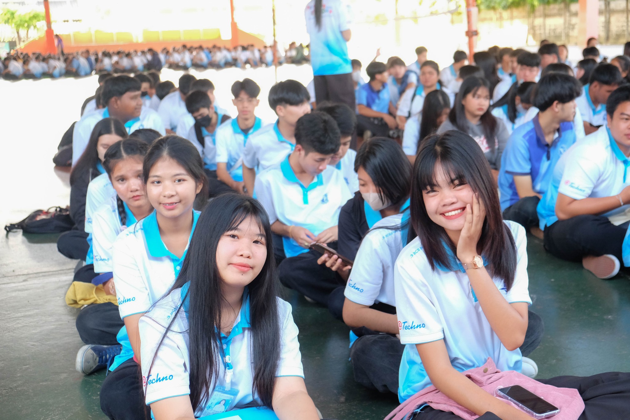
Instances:
[[[341,32],[350,29],[350,10],[341,0],[326,0],[321,9],[321,28],[315,21],[315,0],[304,9],[306,31],[311,36],[314,76],[352,73],[348,43]]]

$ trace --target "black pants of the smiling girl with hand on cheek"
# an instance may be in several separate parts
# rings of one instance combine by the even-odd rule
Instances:
[[[584,400],[584,411],[578,420],[627,419],[630,417],[630,373],[607,372],[590,377],[556,377],[538,382],[559,388],[573,388]],[[452,412],[425,407],[414,420],[456,420]],[[498,420],[491,412],[479,419]]]

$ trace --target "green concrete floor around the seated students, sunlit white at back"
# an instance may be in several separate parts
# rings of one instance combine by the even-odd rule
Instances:
[[[281,67],[280,72],[280,79],[285,78],[282,72],[290,72],[309,81],[306,66]],[[205,76],[217,85],[219,103],[226,106],[236,78],[262,81],[261,98],[266,97],[273,71],[252,73],[208,71]],[[165,71],[163,79],[176,81],[179,75]],[[36,208],[67,205],[67,174],[55,172],[51,159],[62,133],[78,118],[83,99],[95,88],[95,77],[0,81],[0,222],[16,222]],[[270,118],[264,102],[260,114]],[[64,295],[76,261],[57,253],[55,239],[16,232],[0,241],[0,419],[105,419],[98,401],[105,373],[84,377],[74,370],[83,343],[74,327],[78,310],[65,305]],[[530,356],[538,363],[539,377],[630,371],[627,274],[599,280],[580,264],[546,254],[538,239],[529,240],[531,309],[546,327],[541,346]],[[377,420],[394,409],[394,395],[353,382],[348,328],[294,292],[287,291],[285,298],[294,306],[300,328],[306,385],[324,417]]]

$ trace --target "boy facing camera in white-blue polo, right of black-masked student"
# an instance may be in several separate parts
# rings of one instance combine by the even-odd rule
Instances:
[[[232,84],[232,104],[238,115],[223,123],[216,132],[217,178],[239,193],[244,191],[243,150],[249,136],[260,130],[263,122],[255,115],[260,86],[251,79]]]

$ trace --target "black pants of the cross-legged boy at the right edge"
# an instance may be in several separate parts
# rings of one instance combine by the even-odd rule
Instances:
[[[545,227],[543,244],[549,253],[566,261],[612,254],[621,262],[627,226],[615,226],[603,216],[580,215]]]

